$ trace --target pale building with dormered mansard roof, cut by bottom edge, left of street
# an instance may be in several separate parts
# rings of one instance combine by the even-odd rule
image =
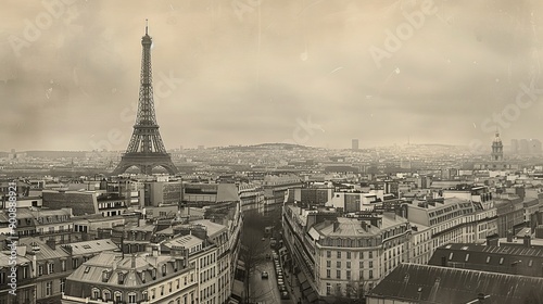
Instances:
[[[195,275],[182,253],[102,252],[67,278],[62,303],[191,303],[197,297]]]

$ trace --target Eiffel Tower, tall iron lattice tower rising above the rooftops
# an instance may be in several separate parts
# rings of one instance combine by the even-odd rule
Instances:
[[[141,38],[143,51],[141,58],[138,114],[126,153],[121,157],[121,163],[113,170],[113,175],[119,175],[131,166],[138,167],[142,174],[147,175],[151,175],[151,170],[157,166],[162,166],[169,174],[177,173],[177,168],[162,142],[154,114],[153,75],[151,69],[152,42],[153,40],[148,34],[148,26],[146,24],[146,36]]]

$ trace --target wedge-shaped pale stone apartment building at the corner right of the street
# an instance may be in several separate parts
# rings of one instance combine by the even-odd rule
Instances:
[[[283,207],[283,238],[317,297],[356,297],[408,259],[412,229],[393,213]],[[315,297],[311,293],[306,295]]]

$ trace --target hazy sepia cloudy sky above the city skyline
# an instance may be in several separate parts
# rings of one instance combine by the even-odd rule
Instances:
[[[125,150],[146,18],[167,149],[543,139],[538,0],[2,4],[0,151]]]

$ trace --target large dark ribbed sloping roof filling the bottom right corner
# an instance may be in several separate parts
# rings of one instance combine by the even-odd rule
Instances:
[[[374,288],[370,297],[417,303],[469,303],[479,293],[489,296],[488,303],[541,303],[543,278],[401,264]]]

